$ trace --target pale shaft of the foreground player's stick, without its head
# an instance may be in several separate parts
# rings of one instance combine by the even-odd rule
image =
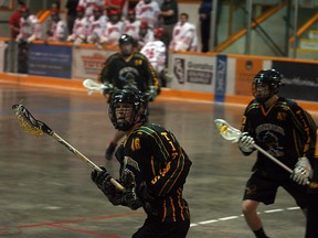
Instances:
[[[74,147],[72,147],[68,142],[66,142],[63,138],[61,138],[57,133],[52,131],[50,133],[51,137],[53,137],[56,141],[59,141],[61,144],[63,144],[65,148],[67,148],[73,154],[75,154],[77,158],[86,162],[91,167],[93,167],[96,171],[102,171],[99,166],[97,166],[95,163],[93,163],[88,158],[86,158],[84,154],[82,154],[78,150],[76,150]],[[118,190],[124,191],[124,186],[119,184],[116,180],[113,177],[110,178],[110,183],[113,183]]]

